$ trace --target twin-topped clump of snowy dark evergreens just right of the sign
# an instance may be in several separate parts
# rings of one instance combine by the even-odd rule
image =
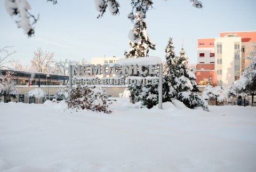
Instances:
[[[182,46],[179,56],[175,55],[172,38],[169,38],[165,48],[165,70],[163,80],[163,102],[178,99],[187,107],[202,107],[208,110],[207,102],[201,96],[191,93],[199,91],[196,77],[188,67],[188,58]]]

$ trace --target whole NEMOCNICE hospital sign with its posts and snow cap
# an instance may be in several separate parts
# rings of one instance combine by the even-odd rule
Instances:
[[[87,77],[95,75],[139,75],[139,77]],[[157,75],[158,77],[140,77],[146,74]],[[75,76],[75,77],[73,77]],[[148,85],[157,84],[158,81],[158,108],[162,109],[163,95],[163,64],[158,57],[146,57],[138,59],[119,59],[116,63],[109,64],[85,64],[85,65],[70,65],[69,66],[69,89],[73,84],[84,83],[93,85],[125,85],[137,84]]]

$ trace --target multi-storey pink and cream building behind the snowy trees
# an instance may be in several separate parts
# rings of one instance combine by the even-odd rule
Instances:
[[[220,32],[219,38],[197,39],[197,83],[204,78],[214,85],[231,86],[250,64],[256,51],[256,31]]]

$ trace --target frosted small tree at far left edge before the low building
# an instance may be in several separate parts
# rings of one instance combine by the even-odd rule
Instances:
[[[0,94],[4,95],[5,100],[10,100],[10,97],[15,99],[19,95],[15,80],[13,71],[7,71],[5,76],[0,77]]]

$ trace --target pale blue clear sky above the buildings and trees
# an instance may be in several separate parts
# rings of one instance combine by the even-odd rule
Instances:
[[[4,1],[0,2],[0,47],[14,46],[17,53],[10,59],[30,63],[34,51],[55,52],[55,60],[91,61],[92,57],[123,56],[129,50],[128,33],[133,26],[127,19],[131,11],[129,0],[119,0],[120,14],[107,11],[97,19],[94,1],[59,0],[57,5],[46,0],[27,0],[34,15],[40,14],[35,25],[35,36],[28,38],[7,14]],[[155,0],[154,9],[147,13],[147,32],[156,50],[149,55],[165,60],[165,46],[173,38],[175,51],[180,52],[182,37],[190,63],[197,63],[197,38],[219,37],[221,31],[256,30],[256,1],[201,0],[202,10],[189,0]]]

